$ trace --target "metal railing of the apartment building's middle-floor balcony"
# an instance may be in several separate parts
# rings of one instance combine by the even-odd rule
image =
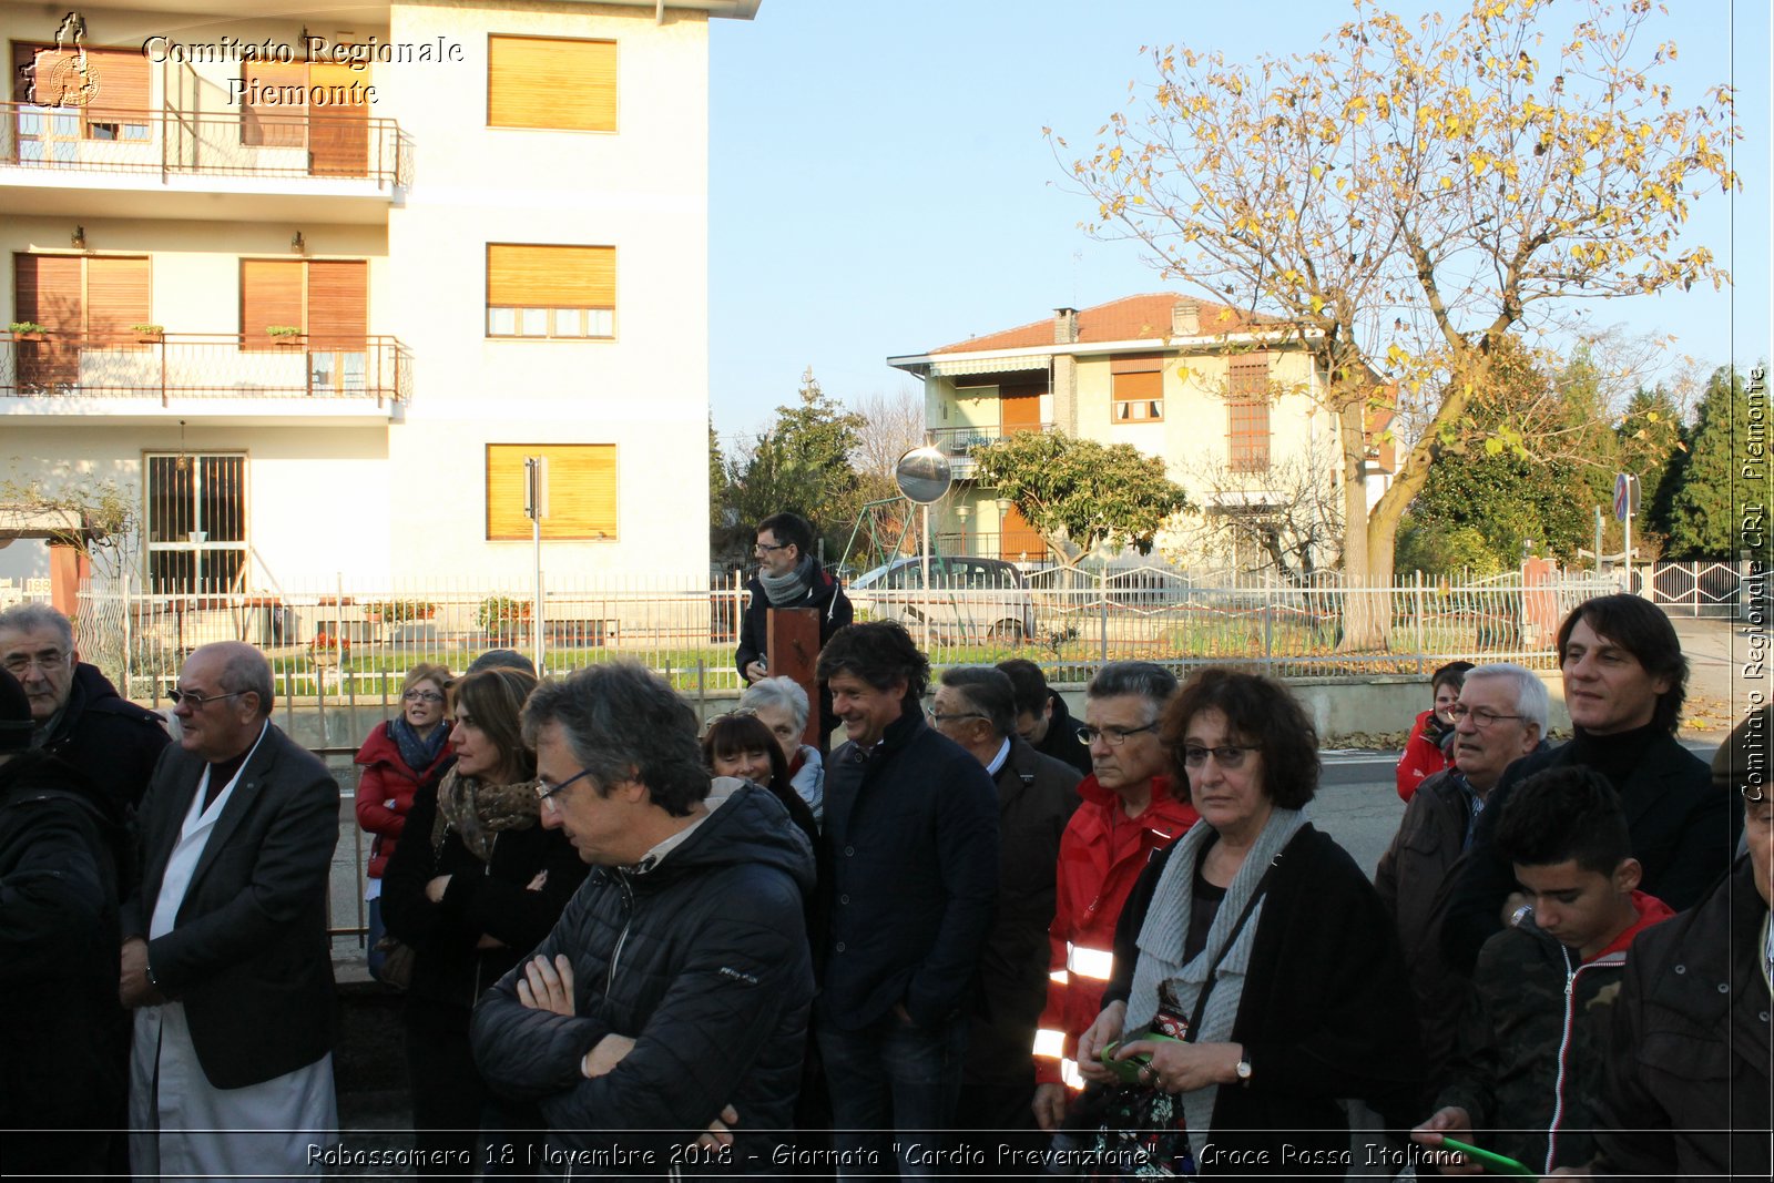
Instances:
[[[410,399],[412,358],[394,337],[248,341],[239,333],[7,333],[0,397]]]

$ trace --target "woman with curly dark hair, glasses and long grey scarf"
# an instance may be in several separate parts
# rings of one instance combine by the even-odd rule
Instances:
[[[1403,1128],[1423,1068],[1385,910],[1300,812],[1313,725],[1279,683],[1208,669],[1162,736],[1201,825],[1141,874],[1079,1039],[1080,1073],[1109,1089],[1098,1178],[1345,1174],[1339,1101]]]

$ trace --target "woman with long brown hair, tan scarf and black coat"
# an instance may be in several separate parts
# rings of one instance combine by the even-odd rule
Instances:
[[[484,669],[454,685],[456,764],[436,793],[413,798],[383,874],[389,933],[415,954],[403,1015],[413,1146],[468,1153],[470,1172],[527,1174],[534,1156],[511,1132],[543,1124],[481,1080],[468,1045],[474,1002],[541,944],[585,878],[566,835],[541,827],[536,756],[518,729],[534,688],[536,676],[516,669]],[[506,1146],[516,1148],[509,1158]],[[461,1162],[419,1172],[459,1174]]]

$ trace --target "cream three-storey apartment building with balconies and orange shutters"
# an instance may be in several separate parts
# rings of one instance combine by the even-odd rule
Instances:
[[[756,9],[0,4],[0,475],[130,490],[153,592],[522,587],[545,456],[550,573],[706,578],[708,23]]]

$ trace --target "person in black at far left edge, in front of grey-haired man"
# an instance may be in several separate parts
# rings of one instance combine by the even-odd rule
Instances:
[[[48,752],[0,670],[0,1163],[99,1176],[122,1158],[115,802]]]

